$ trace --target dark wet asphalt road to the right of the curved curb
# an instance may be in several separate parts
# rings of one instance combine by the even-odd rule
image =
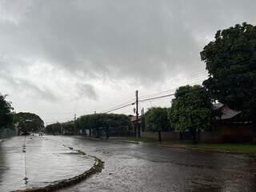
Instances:
[[[256,158],[50,136],[101,158],[102,173],[59,191],[256,191]]]

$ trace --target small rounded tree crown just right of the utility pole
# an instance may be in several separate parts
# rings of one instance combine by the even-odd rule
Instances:
[[[145,130],[147,131],[169,131],[170,121],[167,116],[167,109],[161,107],[150,108],[145,117]]]

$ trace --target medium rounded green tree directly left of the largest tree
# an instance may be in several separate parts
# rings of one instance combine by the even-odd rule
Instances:
[[[181,86],[175,92],[168,113],[170,124],[182,134],[189,130],[194,141],[198,130],[209,130],[214,120],[213,106],[202,86]]]

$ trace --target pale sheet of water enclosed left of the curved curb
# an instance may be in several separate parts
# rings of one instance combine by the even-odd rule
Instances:
[[[1,192],[46,186],[82,174],[94,165],[94,158],[49,139],[34,136],[27,137],[25,142],[24,138],[14,137],[0,143]],[[24,178],[28,178],[27,184]]]

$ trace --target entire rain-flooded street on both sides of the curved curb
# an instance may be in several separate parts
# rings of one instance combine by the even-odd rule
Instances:
[[[26,153],[22,152],[24,142]],[[256,190],[256,159],[244,155],[205,154],[155,144],[66,136],[26,137],[26,141],[24,137],[15,137],[0,145],[1,192],[45,186],[90,169],[93,158],[65,146],[101,158],[105,168],[102,173],[59,191]],[[26,175],[27,185],[23,180]]]

